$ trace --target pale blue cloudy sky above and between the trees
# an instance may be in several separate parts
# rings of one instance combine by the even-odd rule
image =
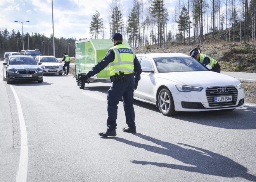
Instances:
[[[147,0],[145,0],[146,2]],[[107,7],[111,0],[53,0],[54,4],[54,36],[55,37],[90,37],[89,24],[92,15],[99,11],[101,18],[107,23]],[[128,15],[128,7],[132,0],[121,0],[124,15]],[[166,0],[170,12],[168,29],[171,29],[173,3]],[[51,0],[0,0],[0,28],[14,29],[21,32],[21,23],[14,21],[29,21],[23,23],[23,32],[52,34],[52,1]],[[126,18],[125,18],[126,19]]]

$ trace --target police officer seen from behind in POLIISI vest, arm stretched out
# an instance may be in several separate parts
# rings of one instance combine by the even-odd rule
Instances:
[[[135,113],[133,109],[133,90],[137,89],[140,74],[142,72],[140,62],[133,50],[122,44],[122,34],[113,34],[112,42],[114,46],[107,51],[106,56],[86,75],[78,75],[78,78],[76,79],[76,82],[82,83],[109,65],[112,85],[107,92],[107,131],[99,133],[99,135],[103,137],[116,136],[117,105],[121,97],[123,97],[127,124],[127,127],[123,128],[123,131],[127,133],[136,133],[134,122]]]

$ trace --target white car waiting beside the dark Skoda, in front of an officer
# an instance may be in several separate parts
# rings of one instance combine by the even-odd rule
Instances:
[[[54,56],[37,56],[35,60],[38,63],[42,63],[40,67],[43,70],[43,74],[55,74],[62,75],[62,65]]]

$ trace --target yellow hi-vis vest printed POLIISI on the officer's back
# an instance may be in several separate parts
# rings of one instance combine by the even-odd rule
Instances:
[[[133,60],[135,58],[133,50],[123,44],[113,46],[110,49],[115,53],[114,61],[109,64],[110,75],[113,76],[116,73],[119,75],[119,71],[125,74],[133,73]]]

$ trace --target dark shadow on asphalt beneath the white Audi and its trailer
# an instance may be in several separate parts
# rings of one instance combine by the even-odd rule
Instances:
[[[97,91],[107,94],[107,90],[109,90],[109,88],[110,86],[85,87],[84,90],[90,90],[92,92]],[[155,114],[160,114],[160,116],[162,116],[156,105],[148,104],[139,100],[134,100],[133,104],[137,105],[138,107],[149,109]],[[233,111],[219,110],[202,112],[178,112],[175,116],[170,117],[217,128],[256,129],[256,121],[252,119],[256,117],[256,107],[250,106],[245,106]]]

